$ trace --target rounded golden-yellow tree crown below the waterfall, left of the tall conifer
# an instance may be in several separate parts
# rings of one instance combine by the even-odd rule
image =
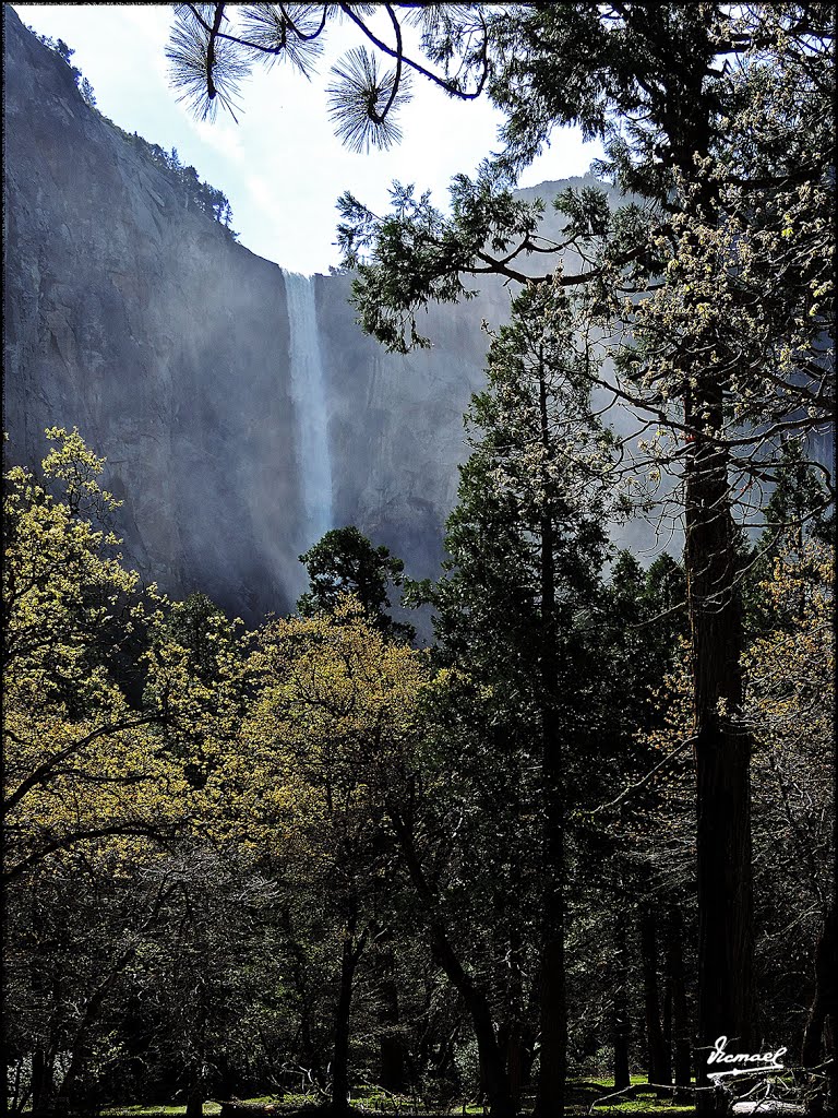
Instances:
[[[267,625],[247,669],[255,698],[206,792],[231,833],[317,877],[403,788],[426,659],[346,596],[334,614]]]

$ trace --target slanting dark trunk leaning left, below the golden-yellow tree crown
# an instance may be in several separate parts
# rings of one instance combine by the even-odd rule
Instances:
[[[488,1001],[465,970],[451,946],[444,918],[439,913],[437,897],[425,877],[413,843],[410,823],[396,807],[391,807],[390,818],[413,888],[426,907],[434,957],[463,998],[463,1004],[472,1020],[472,1027],[477,1041],[480,1079],[486,1092],[489,1115],[492,1118],[514,1118],[515,1105],[510,1089],[510,1079],[506,1074],[503,1052],[497,1043]]]

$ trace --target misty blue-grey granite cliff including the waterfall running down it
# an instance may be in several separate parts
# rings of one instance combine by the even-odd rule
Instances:
[[[127,559],[250,620],[293,605],[328,525],[436,575],[480,320],[507,295],[432,311],[430,351],[387,354],[347,277],[285,275],[184,209],[8,6],[4,28],[9,458],[77,426],[124,501]]]

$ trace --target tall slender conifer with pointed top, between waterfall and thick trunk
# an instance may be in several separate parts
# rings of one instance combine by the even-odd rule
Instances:
[[[568,794],[596,726],[585,623],[613,502],[609,437],[591,418],[583,361],[561,288],[525,290],[493,340],[488,387],[473,398],[447,575],[430,595],[444,654],[492,689],[506,747],[498,762],[524,751],[508,769],[507,809],[541,819],[541,1114],[560,1114],[564,1100]],[[533,766],[535,787],[515,787]]]

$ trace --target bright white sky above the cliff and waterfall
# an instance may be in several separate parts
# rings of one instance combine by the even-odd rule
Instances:
[[[94,88],[97,107],[139,132],[225,192],[232,228],[259,256],[311,275],[340,263],[334,245],[337,197],[350,190],[377,212],[396,179],[447,201],[454,174],[472,174],[497,150],[502,117],[488,101],[456,102],[423,82],[400,114],[403,139],[389,152],[354,154],[335,139],[326,114],[328,67],[359,40],[343,25],[330,29],[321,74],[307,82],[287,66],[254,69],[235,123],[219,112],[197,121],[177,101],[166,75],[170,4],[13,4],[25,23],[61,38]],[[584,174],[600,154],[579,132],[558,130],[551,146],[522,174],[522,187]]]

